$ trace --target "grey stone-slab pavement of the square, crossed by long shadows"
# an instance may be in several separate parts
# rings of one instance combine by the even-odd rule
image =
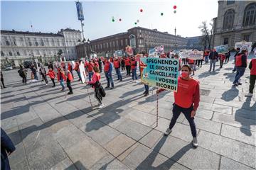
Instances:
[[[219,68],[219,63],[216,66]],[[1,89],[1,128],[16,145],[12,169],[255,169],[256,97],[246,98],[249,69],[242,86],[232,87],[233,64],[208,72],[196,70],[201,103],[196,113],[197,149],[181,114],[169,137],[163,132],[171,120],[172,92],[144,97],[144,85],[131,77],[117,82],[96,104],[94,91],[74,81],[71,96],[41,81],[24,86],[17,70],[4,72]],[[77,75],[75,74],[77,79]],[[102,84],[106,80],[102,74]],[[89,91],[89,92],[88,92]],[[89,98],[90,97],[90,98]]]

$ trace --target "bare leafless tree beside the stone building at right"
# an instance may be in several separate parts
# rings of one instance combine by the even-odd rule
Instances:
[[[206,21],[203,21],[201,26],[199,26],[198,28],[201,30],[201,33],[203,35],[203,38],[201,39],[203,46],[205,48],[208,46],[208,49],[210,49],[213,39],[213,20],[211,20],[210,22],[210,30],[207,26]]]

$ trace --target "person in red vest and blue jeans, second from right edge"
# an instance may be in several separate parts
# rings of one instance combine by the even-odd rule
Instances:
[[[235,74],[235,80],[233,81],[233,86],[242,85],[239,79],[245,74],[245,69],[247,67],[247,50],[243,49],[242,52],[238,53],[235,57],[235,69],[237,73]]]

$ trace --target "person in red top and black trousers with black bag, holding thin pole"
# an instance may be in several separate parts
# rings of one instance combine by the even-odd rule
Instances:
[[[93,67],[93,71],[95,74],[92,76],[92,81],[89,81],[88,84],[92,84],[92,88],[95,89],[95,98],[99,102],[99,108],[103,108],[104,104],[102,104],[102,94],[100,93],[100,90],[104,91],[102,89],[102,86],[100,84],[100,70],[98,67]]]

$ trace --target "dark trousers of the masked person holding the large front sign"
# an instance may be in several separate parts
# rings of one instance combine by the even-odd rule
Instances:
[[[188,123],[191,127],[191,133],[193,137],[196,137],[196,124],[194,122],[194,118],[191,118],[191,111],[193,111],[193,106],[190,108],[181,108],[180,106],[176,105],[174,103],[173,108],[173,117],[171,118],[171,123],[169,125],[169,128],[174,128],[174,125],[176,123],[176,120],[178,119],[178,116],[181,115],[181,112],[185,115],[186,120],[188,120]]]

